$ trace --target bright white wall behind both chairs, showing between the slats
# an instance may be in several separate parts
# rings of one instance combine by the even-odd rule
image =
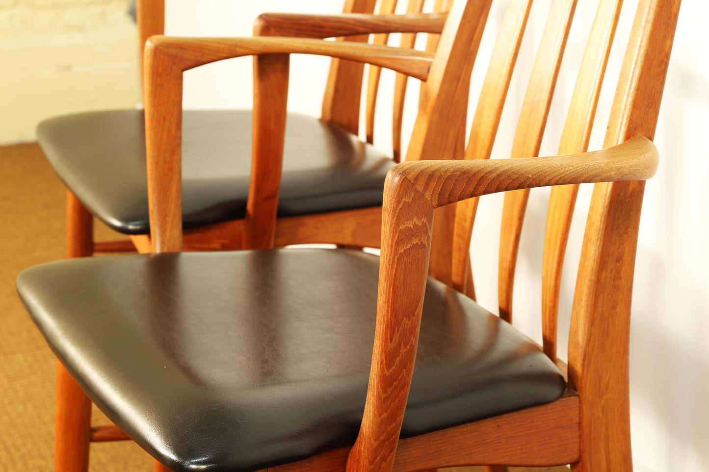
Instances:
[[[171,1],[171,0],[168,0]],[[342,2],[311,0],[264,0],[257,6],[245,2],[213,0],[204,11],[187,0],[169,3],[168,30],[182,34],[247,35],[250,21],[259,11],[335,11]],[[503,5],[493,3],[491,21],[499,23]],[[585,36],[591,28],[597,1],[579,1],[572,33]],[[551,0],[537,0],[530,18],[532,26],[525,35],[520,52],[519,70],[515,72],[508,104],[503,113],[494,157],[510,152],[515,116],[525,93],[525,83],[534,60],[535,48],[542,33],[543,17]],[[637,0],[626,0],[620,19],[618,41],[627,41]],[[685,0],[679,19],[673,57],[661,108],[656,143],[661,154],[657,176],[647,185],[632,308],[631,339],[631,421],[635,470],[638,472],[709,471],[709,156],[704,136],[709,129],[709,5],[705,1]],[[493,37],[484,39],[479,55],[489,57]],[[560,72],[557,96],[549,114],[542,154],[554,154],[565,109],[574,86],[585,40],[572,37]],[[620,44],[620,43],[618,43]],[[605,99],[599,106],[591,149],[603,142],[614,84],[618,79],[623,48],[611,55],[605,82]],[[328,62],[314,58],[294,59],[291,67],[291,110],[317,115],[325,84]],[[211,68],[211,70],[208,70]],[[485,67],[474,70],[473,89],[481,86]],[[190,75],[191,74],[191,75]],[[215,75],[216,74],[216,75]],[[189,107],[250,106],[250,62],[235,61],[215,65],[188,74],[185,104]],[[415,81],[411,81],[413,85]],[[609,93],[610,92],[610,93]],[[411,94],[412,96],[414,94]],[[391,100],[391,89],[381,94],[384,105]],[[415,100],[413,100],[415,101]],[[471,103],[474,110],[475,103]],[[386,106],[384,108],[387,108]],[[391,112],[378,111],[375,144],[389,149]],[[406,115],[404,136],[411,133],[415,103]],[[590,197],[590,186],[582,189],[579,207]],[[515,287],[515,325],[540,339],[540,252],[544,237],[543,223],[548,190],[535,189],[527,210],[527,225],[518,262]],[[472,254],[476,284],[481,303],[496,307],[496,257],[500,227],[501,196],[489,196],[481,203],[474,231]],[[573,298],[573,279],[583,235],[586,214],[578,211],[572,230],[569,260],[564,274],[562,326],[569,324]],[[488,275],[489,274],[489,275]],[[609,288],[612,290],[612,288]],[[526,307],[520,306],[529,300]],[[563,340],[562,344],[566,342]],[[565,349],[562,349],[565,351]]]

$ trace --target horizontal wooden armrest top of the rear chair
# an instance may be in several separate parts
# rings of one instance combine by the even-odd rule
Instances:
[[[375,33],[440,33],[447,17],[448,13],[406,15],[262,13],[254,23],[254,35],[334,38]]]

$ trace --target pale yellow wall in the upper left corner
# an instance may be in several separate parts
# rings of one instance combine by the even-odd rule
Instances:
[[[0,0],[0,144],[50,116],[138,103],[129,0]]]

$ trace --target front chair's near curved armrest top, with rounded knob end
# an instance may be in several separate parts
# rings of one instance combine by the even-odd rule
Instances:
[[[646,180],[657,170],[657,148],[637,135],[593,152],[527,159],[403,162],[393,167],[433,206],[501,191],[591,182]]]

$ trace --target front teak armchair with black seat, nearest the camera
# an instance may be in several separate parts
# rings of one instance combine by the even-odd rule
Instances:
[[[256,121],[268,111],[281,117],[273,120],[278,123],[285,103],[267,103],[264,91],[284,95],[292,52],[328,52],[411,74],[428,59],[396,62],[390,48],[347,43],[152,38],[146,111],[157,139],[148,141],[147,152],[151,230],[160,254],[44,264],[21,274],[18,291],[91,399],[167,467],[417,471],[571,463],[574,471],[632,470],[632,274],[644,179],[657,168],[651,139],[680,2],[640,0],[606,149],[586,152],[620,11],[620,0],[600,1],[562,155],[533,157],[576,4],[554,0],[515,134],[513,157],[525,159],[487,160],[530,7],[530,0],[510,0],[467,159],[424,160],[454,148],[438,137],[490,4],[454,3],[440,43],[450,53],[443,57],[439,47],[422,74],[427,102],[409,159],[386,179],[381,259],[348,249],[176,252],[182,244],[179,147],[169,139],[175,124],[163,117],[179,101],[170,98],[174,90],[152,87],[194,67],[178,54],[256,55]],[[365,59],[358,56],[362,48],[379,52]],[[452,118],[458,123],[459,116]],[[555,355],[559,271],[576,185],[591,182],[566,369]],[[274,185],[265,184],[266,191]],[[542,268],[543,348],[462,293],[427,279],[434,209],[465,202],[456,209],[450,259],[452,283],[462,288],[474,198],[507,191],[499,298],[509,320],[515,235],[528,189],[538,186],[559,186],[552,191]]]

